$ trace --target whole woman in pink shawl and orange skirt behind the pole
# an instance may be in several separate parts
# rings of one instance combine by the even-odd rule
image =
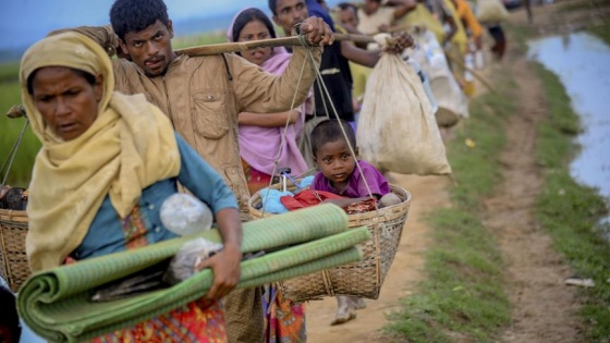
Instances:
[[[227,36],[229,41],[260,40],[276,38],[276,32],[263,11],[251,8],[235,15]],[[284,48],[269,47],[247,50],[241,56],[273,74],[281,74],[291,57]],[[297,145],[305,108],[295,103],[294,110],[282,113],[240,113],[240,155],[251,193],[267,187],[279,168],[289,167],[293,175],[307,171]],[[263,301],[266,342],[306,341],[304,305],[291,306],[274,284],[267,287]]]

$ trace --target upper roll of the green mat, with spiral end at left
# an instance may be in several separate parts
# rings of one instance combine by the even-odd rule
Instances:
[[[341,208],[330,204],[315,206],[244,223],[242,252],[246,254],[294,245],[347,229],[347,216]],[[218,230],[195,236],[216,243],[222,242]],[[20,295],[30,297],[34,292],[44,303],[70,297],[157,265],[173,256],[185,242],[195,236],[169,240],[35,273],[22,285]],[[47,277],[37,278],[39,274]]]

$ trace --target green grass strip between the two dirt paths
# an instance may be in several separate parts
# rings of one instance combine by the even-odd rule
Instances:
[[[503,261],[493,234],[479,215],[481,199],[499,182],[499,154],[505,142],[504,120],[514,111],[510,75],[497,84],[499,94],[472,101],[471,118],[455,128],[448,156],[457,186],[452,208],[432,210],[427,222],[432,243],[426,253],[426,274],[415,295],[402,299],[385,332],[408,342],[489,342],[511,322],[502,283]],[[475,142],[471,148],[466,139]]]

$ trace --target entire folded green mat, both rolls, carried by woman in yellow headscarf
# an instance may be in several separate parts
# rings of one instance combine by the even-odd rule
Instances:
[[[362,253],[355,245],[370,236],[366,228],[349,230],[345,212],[330,204],[247,222],[243,232],[244,255],[272,253],[242,261],[239,289],[358,261]],[[103,285],[167,262],[185,243],[199,237],[222,242],[212,229],[37,272],[20,290],[20,316],[49,341],[80,342],[183,306],[207,293],[212,284],[209,269],[172,286],[111,302],[94,302],[91,295]]]

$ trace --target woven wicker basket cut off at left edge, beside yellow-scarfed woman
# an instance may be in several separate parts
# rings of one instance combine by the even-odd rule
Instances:
[[[25,211],[0,209],[0,274],[13,292],[29,275],[25,255],[27,215]]]

